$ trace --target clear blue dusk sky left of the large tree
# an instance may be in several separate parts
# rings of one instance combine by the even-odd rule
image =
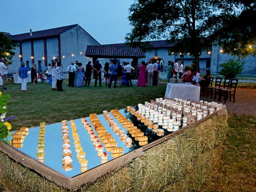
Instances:
[[[79,24],[100,44],[124,42],[133,0],[4,0],[0,31],[21,34]]]

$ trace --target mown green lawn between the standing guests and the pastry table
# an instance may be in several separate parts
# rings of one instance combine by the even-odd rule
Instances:
[[[7,116],[15,115],[10,121],[13,129],[21,126],[39,126],[40,122],[52,124],[61,120],[77,119],[89,116],[90,113],[101,114],[102,110],[126,108],[140,102],[163,97],[166,86],[153,87],[121,87],[108,89],[102,87],[68,87],[64,81],[64,92],[53,91],[51,86],[43,83],[32,85],[28,83],[28,92],[21,91],[21,84],[8,82],[8,90],[3,94],[10,94]]]

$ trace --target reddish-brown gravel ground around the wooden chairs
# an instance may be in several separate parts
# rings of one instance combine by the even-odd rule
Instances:
[[[227,110],[229,114],[250,114],[250,115],[256,115],[256,89],[250,89],[250,88],[237,88],[236,89],[236,100],[235,103],[232,101],[226,102]],[[200,97],[202,100],[206,101],[216,101],[211,98],[205,98]],[[218,102],[218,100],[216,101]],[[224,100],[221,100],[221,103],[224,104]]]

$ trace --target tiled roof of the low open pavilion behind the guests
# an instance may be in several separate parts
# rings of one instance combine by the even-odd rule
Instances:
[[[139,47],[87,45],[86,57],[97,58],[144,58],[145,53]]]

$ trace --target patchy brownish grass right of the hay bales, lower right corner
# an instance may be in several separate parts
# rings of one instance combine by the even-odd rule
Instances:
[[[228,124],[225,150],[202,191],[256,191],[256,117],[233,115]]]

